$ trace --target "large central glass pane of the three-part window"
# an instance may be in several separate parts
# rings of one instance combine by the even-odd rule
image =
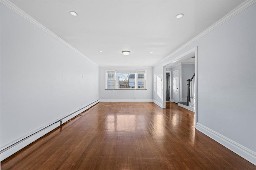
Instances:
[[[135,88],[135,74],[118,73],[118,88]]]

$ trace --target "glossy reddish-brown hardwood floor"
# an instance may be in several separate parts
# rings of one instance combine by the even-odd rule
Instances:
[[[194,129],[194,113],[177,104],[99,103],[26,149],[1,169],[256,169]]]

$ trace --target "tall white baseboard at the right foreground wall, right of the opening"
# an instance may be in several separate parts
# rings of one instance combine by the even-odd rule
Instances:
[[[242,156],[244,159],[248,160],[252,164],[256,165],[256,152],[240,145],[239,143],[236,143],[235,141],[232,141],[231,139],[221,135],[220,133],[217,133],[216,131],[213,131],[208,127],[205,127],[200,123],[196,123],[196,129],[198,129],[198,131],[204,133],[208,137],[214,139],[224,147],[232,150],[239,156]]]

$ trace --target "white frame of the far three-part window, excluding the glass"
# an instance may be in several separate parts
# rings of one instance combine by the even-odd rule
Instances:
[[[114,73],[115,88],[108,88],[108,74]],[[135,88],[118,88],[118,74],[124,74],[129,72],[134,74],[134,87]],[[138,74],[144,74],[144,88],[138,88]],[[105,90],[147,90],[146,70],[105,70]],[[142,81],[142,80],[139,80]]]

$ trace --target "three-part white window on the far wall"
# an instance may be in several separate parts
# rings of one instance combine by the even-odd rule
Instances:
[[[146,71],[107,70],[106,89],[146,89]]]

